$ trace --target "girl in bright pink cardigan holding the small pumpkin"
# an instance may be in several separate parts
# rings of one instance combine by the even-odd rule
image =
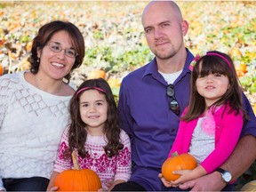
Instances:
[[[164,180],[160,173],[159,177],[167,188],[177,187],[219,168],[236,147],[243,118],[246,118],[242,88],[230,57],[214,51],[196,57],[195,61],[189,105],[183,112],[168,157],[174,152],[189,153],[196,158],[198,166],[192,171],[173,172],[181,176],[171,182]],[[228,178],[230,181],[231,177]]]

